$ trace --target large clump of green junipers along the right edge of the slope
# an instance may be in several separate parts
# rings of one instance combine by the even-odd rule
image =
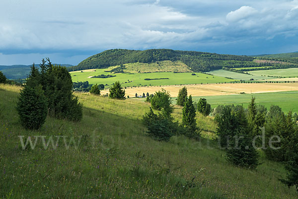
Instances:
[[[220,105],[214,110],[220,146],[227,160],[254,169],[263,150],[269,160],[286,163],[287,179],[281,182],[298,187],[298,125],[292,112],[285,114],[277,105],[267,111],[252,98],[248,108]]]

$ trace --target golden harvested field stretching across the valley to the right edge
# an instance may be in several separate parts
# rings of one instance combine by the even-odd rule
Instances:
[[[135,97],[136,93],[140,96],[143,93],[153,94],[156,91],[164,89],[170,92],[171,97],[177,97],[179,89],[184,86],[162,86],[162,87],[140,87],[125,89],[126,96]],[[253,84],[203,84],[203,85],[186,85],[188,95],[192,96],[221,96],[237,95],[240,93],[256,94],[283,91],[298,91],[298,83],[253,83]],[[104,95],[108,90],[101,91]]]

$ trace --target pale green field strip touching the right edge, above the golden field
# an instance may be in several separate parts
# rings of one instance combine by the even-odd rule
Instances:
[[[298,68],[249,71],[248,73],[259,76],[298,77]]]

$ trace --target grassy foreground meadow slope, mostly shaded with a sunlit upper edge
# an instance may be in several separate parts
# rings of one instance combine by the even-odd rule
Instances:
[[[48,117],[40,130],[29,131],[15,110],[19,90],[0,85],[0,198],[297,198],[278,181],[286,176],[284,166],[261,152],[255,171],[229,165],[212,140],[212,117],[197,116],[201,141],[174,136],[159,142],[141,122],[149,103],[75,93],[84,105],[79,123]],[[180,107],[173,116],[181,120]],[[33,143],[38,138],[34,150],[22,149],[20,135]],[[45,144],[34,136],[45,136]],[[64,137],[52,145],[50,136]],[[72,137],[75,144],[69,144]]]

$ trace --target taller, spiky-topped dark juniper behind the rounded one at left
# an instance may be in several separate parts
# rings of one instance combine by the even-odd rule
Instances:
[[[79,121],[82,118],[82,104],[72,92],[72,77],[65,67],[53,66],[48,58],[47,63],[43,59],[40,72],[34,64],[31,67],[26,85],[42,85],[50,116],[71,121]]]

